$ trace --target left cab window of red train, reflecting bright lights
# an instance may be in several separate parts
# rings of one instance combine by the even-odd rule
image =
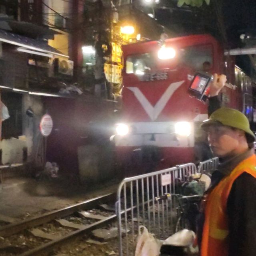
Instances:
[[[143,75],[156,67],[154,57],[150,53],[129,56],[126,59],[126,74]]]

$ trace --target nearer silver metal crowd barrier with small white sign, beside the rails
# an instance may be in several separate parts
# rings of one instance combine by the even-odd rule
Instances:
[[[136,235],[140,225],[146,226],[157,238],[166,239],[174,233],[175,180],[197,173],[193,163],[125,178],[118,187],[116,215],[118,217],[119,255],[134,255]],[[124,237],[122,236],[124,234]]]

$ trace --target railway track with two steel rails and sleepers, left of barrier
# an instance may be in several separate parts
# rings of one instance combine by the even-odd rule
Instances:
[[[4,254],[4,251],[0,251],[0,254],[41,255],[51,252],[53,248],[66,244],[73,238],[107,226],[116,220],[114,208],[108,206],[114,205],[115,199],[116,194],[106,194],[41,216],[3,226],[0,228],[0,237],[16,239],[17,244],[14,247],[16,246],[21,250],[17,254]],[[51,228],[48,229],[49,226]],[[52,230],[53,233],[51,234],[49,231]],[[24,243],[19,244],[18,241],[21,237],[32,242],[26,246]]]

